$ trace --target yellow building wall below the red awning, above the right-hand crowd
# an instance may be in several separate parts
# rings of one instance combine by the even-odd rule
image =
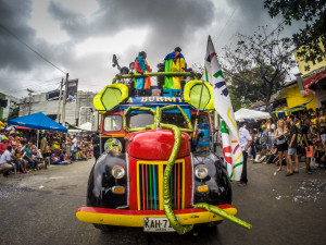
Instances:
[[[286,110],[288,108],[297,107],[299,105],[306,103],[310,100],[312,100],[312,101],[310,103],[308,103],[305,106],[305,108],[308,108],[308,109],[312,108],[313,110],[316,110],[316,102],[315,102],[314,96],[311,95],[311,96],[302,97],[298,84],[296,84],[296,86],[291,86],[291,87],[287,88],[286,91],[284,93],[284,95],[281,96],[281,98],[286,98],[288,107],[285,107],[285,108],[281,108],[278,110]],[[290,113],[286,112],[286,114],[288,115]]]

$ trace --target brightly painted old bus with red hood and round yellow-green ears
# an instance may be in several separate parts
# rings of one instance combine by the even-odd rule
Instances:
[[[213,150],[212,86],[187,72],[146,75],[191,81],[183,90],[152,87],[129,96],[135,93],[114,78],[95,97],[102,154],[78,220],[102,231],[118,225],[185,234],[224,219],[250,228],[235,217],[229,175]],[[120,76],[135,77],[141,75]]]

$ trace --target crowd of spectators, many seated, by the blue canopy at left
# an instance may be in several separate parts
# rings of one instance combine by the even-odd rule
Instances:
[[[37,140],[39,137],[39,140]],[[21,174],[47,164],[71,164],[92,157],[92,137],[7,127],[0,132],[0,173]]]

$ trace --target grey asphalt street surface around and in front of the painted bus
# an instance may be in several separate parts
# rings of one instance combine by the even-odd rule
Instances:
[[[285,176],[276,167],[249,162],[248,186],[233,183],[234,205],[251,230],[224,221],[216,229],[149,234],[118,228],[105,234],[79,222],[93,160],[0,176],[0,244],[325,244],[326,170]],[[285,168],[284,168],[285,170]]]

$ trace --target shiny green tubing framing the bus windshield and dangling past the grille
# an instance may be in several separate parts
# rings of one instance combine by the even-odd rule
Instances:
[[[184,115],[185,120],[187,121],[188,128],[179,128],[178,126],[173,125],[173,124],[160,123],[161,119],[162,119],[162,111],[164,111],[164,110],[172,110],[172,109],[178,109],[181,112],[181,114]],[[127,126],[126,117],[128,115],[128,113],[129,113],[130,110],[149,111],[150,113],[154,114],[154,123],[152,125],[148,125],[148,126],[145,126],[145,127],[129,128]],[[171,180],[172,180],[171,175],[172,175],[173,167],[174,167],[174,163],[175,163],[175,160],[176,160],[176,157],[177,157],[177,154],[179,151],[180,144],[181,144],[181,132],[192,133],[192,131],[193,131],[191,122],[188,119],[187,114],[177,105],[166,106],[166,107],[163,107],[161,109],[158,107],[156,111],[154,111],[151,108],[146,108],[146,107],[129,107],[125,111],[123,120],[124,120],[124,130],[126,132],[154,130],[158,126],[161,126],[162,128],[165,128],[165,130],[173,131],[173,133],[174,133],[174,146],[173,146],[171,156],[170,156],[170,158],[167,160],[166,168],[164,170],[164,175],[163,175],[163,208],[164,208],[165,215],[166,215],[166,217],[167,217],[171,225],[173,226],[173,229],[178,234],[181,235],[181,234],[185,234],[185,233],[191,231],[192,228],[193,228],[193,225],[192,224],[191,225],[183,225],[183,224],[180,224],[180,222],[177,220],[175,213],[173,212],[172,201],[171,201],[171,199],[172,199],[172,196],[171,196],[171,183],[170,183]],[[216,206],[209,205],[209,204],[197,204],[195,206],[195,208],[206,209],[208,211],[213,212],[213,213],[215,213],[217,216],[221,216],[221,217],[223,217],[223,218],[225,218],[225,219],[227,219],[227,220],[229,220],[231,222],[235,222],[236,224],[239,224],[239,225],[241,225],[243,228],[247,228],[247,229],[251,229],[251,224],[247,223],[243,220],[240,220],[237,217],[228,215],[226,211],[224,211],[223,209],[221,209],[221,208],[218,208]]]

